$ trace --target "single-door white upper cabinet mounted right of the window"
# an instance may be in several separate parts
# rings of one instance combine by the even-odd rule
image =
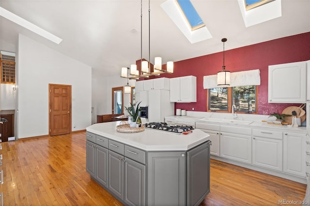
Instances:
[[[268,103],[306,103],[306,61],[269,66]]]

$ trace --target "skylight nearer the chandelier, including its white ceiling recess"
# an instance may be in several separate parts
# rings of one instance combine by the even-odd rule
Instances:
[[[185,3],[185,6],[183,5],[183,3]],[[186,15],[186,13],[188,12],[187,9],[181,9],[181,5],[183,5],[183,7],[192,7],[192,9],[190,9],[189,11],[189,15]],[[211,33],[204,25],[201,17],[197,14],[195,8],[189,0],[166,0],[165,2],[160,4],[160,6],[171,18],[173,23],[182,31],[182,33],[186,36],[186,38],[191,44],[212,38]],[[190,23],[192,21],[190,20],[190,16],[192,14],[191,12],[193,11],[196,13],[196,15],[194,15],[194,23]],[[188,17],[188,19],[186,18],[186,16]]]

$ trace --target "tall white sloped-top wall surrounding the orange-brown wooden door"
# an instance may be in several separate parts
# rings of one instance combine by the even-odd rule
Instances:
[[[91,125],[92,68],[19,35],[18,138],[47,135],[48,84],[72,85],[72,131]]]

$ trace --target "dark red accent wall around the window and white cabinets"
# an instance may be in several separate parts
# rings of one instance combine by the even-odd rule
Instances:
[[[233,41],[233,40],[229,40]],[[226,44],[229,44],[228,43]],[[268,103],[268,65],[305,61],[310,59],[310,32],[284,37],[259,44],[225,50],[226,70],[240,72],[259,69],[261,85],[258,86],[258,114],[264,109],[269,114],[281,113],[291,105]],[[206,111],[206,89],[203,89],[203,76],[217,74],[223,66],[223,52],[174,62],[174,73],[162,77],[197,76],[197,102],[175,103],[175,108],[192,111]]]

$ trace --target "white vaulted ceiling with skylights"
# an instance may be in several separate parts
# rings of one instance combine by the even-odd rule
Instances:
[[[237,0],[191,0],[212,38],[191,44],[151,0],[151,62],[163,63],[257,44],[310,31],[310,0],[281,0],[282,16],[246,27]],[[90,65],[104,75],[120,75],[140,59],[140,0],[1,0],[0,7],[60,37],[55,44],[0,17],[0,50],[16,52],[18,33]],[[148,1],[143,0],[142,58],[149,59]],[[305,44],[310,44],[305,42]]]

